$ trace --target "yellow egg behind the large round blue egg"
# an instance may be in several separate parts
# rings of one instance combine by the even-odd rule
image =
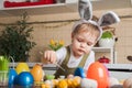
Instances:
[[[15,68],[16,73],[20,74],[22,72],[30,72],[30,68],[26,63],[19,63]]]

